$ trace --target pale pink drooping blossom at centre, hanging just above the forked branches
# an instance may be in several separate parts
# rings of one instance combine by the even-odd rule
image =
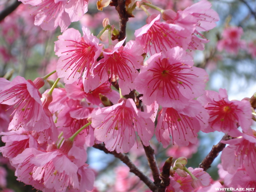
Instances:
[[[147,113],[138,111],[132,99],[120,99],[118,104],[92,113],[94,136],[103,141],[109,151],[127,153],[135,143],[135,132],[145,146],[154,134],[154,123]]]

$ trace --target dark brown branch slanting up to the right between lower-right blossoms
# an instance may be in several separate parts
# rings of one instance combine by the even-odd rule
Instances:
[[[228,134],[225,134],[217,145],[212,146],[212,150],[204,158],[202,163],[199,164],[199,167],[203,168],[204,171],[209,169],[211,167],[211,164],[212,164],[213,160],[219,155],[220,151],[222,151],[226,146],[226,144],[221,143],[221,141],[222,140],[226,141],[226,140],[230,140],[230,139],[233,139],[233,138],[231,136],[229,136]]]

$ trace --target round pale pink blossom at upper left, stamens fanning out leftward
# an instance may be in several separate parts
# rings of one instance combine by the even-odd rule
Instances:
[[[82,76],[91,79],[91,67],[100,56],[99,39],[88,28],[82,29],[82,37],[78,30],[69,28],[55,41],[54,51],[60,57],[56,71],[59,78],[64,77],[66,84],[80,80]]]

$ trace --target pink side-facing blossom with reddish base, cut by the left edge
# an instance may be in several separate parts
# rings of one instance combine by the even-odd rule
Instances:
[[[38,91],[44,85],[42,78],[32,82],[17,76],[12,82],[4,78],[1,78],[0,82],[0,103],[12,105],[15,108],[9,130],[24,127],[28,131],[42,131],[51,126]]]

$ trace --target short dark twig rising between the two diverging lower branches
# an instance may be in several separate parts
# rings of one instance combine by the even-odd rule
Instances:
[[[149,146],[143,145],[143,148],[148,158],[148,164],[152,171],[154,183],[156,184],[156,186],[159,186],[161,183],[161,179],[160,179],[160,171],[156,164],[155,150],[150,145]]]

